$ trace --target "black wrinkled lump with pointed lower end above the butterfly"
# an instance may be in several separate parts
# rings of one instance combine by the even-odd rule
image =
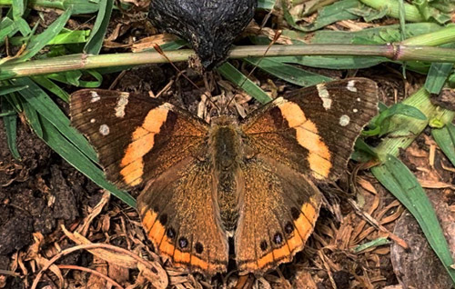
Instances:
[[[152,0],[148,16],[157,28],[187,40],[211,70],[226,61],[257,5],[257,0]]]

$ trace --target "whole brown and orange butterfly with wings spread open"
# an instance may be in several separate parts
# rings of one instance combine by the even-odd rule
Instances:
[[[366,78],[310,86],[243,120],[220,115],[210,124],[112,90],[77,91],[70,110],[107,179],[144,186],[137,210],[161,256],[213,275],[227,271],[231,252],[238,270],[264,274],[305,246],[319,216],[318,185],[346,170],[378,112],[378,87]]]

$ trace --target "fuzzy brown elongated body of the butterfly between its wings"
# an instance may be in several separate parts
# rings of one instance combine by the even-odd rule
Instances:
[[[233,119],[221,116],[212,122],[209,137],[214,166],[214,190],[221,222],[233,232],[238,220],[238,192],[241,162],[241,136]]]

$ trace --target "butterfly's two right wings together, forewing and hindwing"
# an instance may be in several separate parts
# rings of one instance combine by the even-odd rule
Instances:
[[[264,273],[303,248],[319,214],[315,183],[346,169],[361,129],[377,113],[377,90],[364,78],[311,86],[241,124],[248,154],[235,234],[240,270]]]

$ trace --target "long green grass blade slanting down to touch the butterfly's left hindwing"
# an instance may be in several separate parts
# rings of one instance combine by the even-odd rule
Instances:
[[[96,164],[91,162],[86,154],[82,154],[75,145],[68,142],[66,137],[60,131],[48,122],[45,117],[40,117],[43,124],[43,141],[49,145],[57,154],[60,154],[66,162],[73,165],[79,172],[85,174],[95,184],[105,188],[107,191],[114,194],[126,204],[136,207],[136,200],[130,194],[120,191],[114,184],[106,181],[105,174],[101,171]],[[32,125],[35,129],[35,127]]]

